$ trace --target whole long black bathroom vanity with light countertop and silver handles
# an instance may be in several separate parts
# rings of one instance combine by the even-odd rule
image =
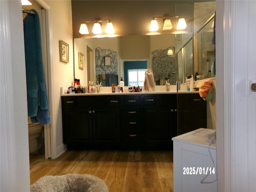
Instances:
[[[62,95],[68,149],[172,149],[172,137],[206,128],[198,92]]]

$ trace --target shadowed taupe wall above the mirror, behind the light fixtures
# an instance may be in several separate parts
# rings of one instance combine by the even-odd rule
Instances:
[[[111,20],[117,36],[149,34],[153,17],[182,16],[188,26],[193,21],[192,0],[72,0],[72,27],[74,38],[90,38],[93,23],[88,23],[90,34],[81,35],[78,30],[84,21]],[[178,19],[171,19],[175,31]],[[158,20],[161,24],[162,20]],[[106,22],[102,22],[104,28]],[[191,24],[192,25],[192,24]]]

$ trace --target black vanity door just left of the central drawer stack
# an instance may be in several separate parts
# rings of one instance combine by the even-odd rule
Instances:
[[[120,108],[95,109],[92,116],[94,143],[120,142]]]

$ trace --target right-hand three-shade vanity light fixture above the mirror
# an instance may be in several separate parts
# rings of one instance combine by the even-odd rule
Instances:
[[[150,29],[149,31],[157,31],[158,30],[158,24],[156,19],[162,19],[163,23],[164,23],[164,27],[162,30],[171,30],[172,29],[172,22],[170,20],[170,18],[179,18],[180,16],[163,16],[163,17],[153,17],[151,24],[150,24]],[[179,25],[180,23],[180,25]],[[186,28],[186,21],[184,18],[180,18],[178,21],[178,25],[177,25],[177,30],[180,29],[185,29]]]

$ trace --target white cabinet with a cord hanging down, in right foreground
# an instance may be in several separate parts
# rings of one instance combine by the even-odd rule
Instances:
[[[217,192],[215,130],[200,128],[172,138],[174,192]],[[210,144],[210,146],[209,146]]]

